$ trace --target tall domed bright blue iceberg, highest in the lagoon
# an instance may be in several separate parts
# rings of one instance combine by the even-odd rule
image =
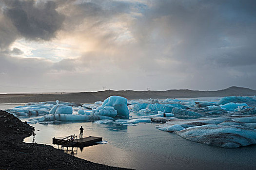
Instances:
[[[127,99],[120,96],[110,96],[101,105],[102,107],[111,106],[117,110],[119,117],[129,117],[129,110],[127,107]]]

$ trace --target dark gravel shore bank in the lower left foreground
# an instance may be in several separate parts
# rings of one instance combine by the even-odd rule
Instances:
[[[34,128],[0,110],[0,170],[125,170],[89,162],[50,145],[24,143]]]

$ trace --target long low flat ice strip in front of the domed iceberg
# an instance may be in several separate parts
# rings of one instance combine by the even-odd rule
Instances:
[[[107,116],[94,116],[94,115],[68,115],[68,114],[55,114],[55,115],[45,115],[39,118],[40,121],[87,121],[87,120],[100,120],[100,119],[110,119],[113,118]]]

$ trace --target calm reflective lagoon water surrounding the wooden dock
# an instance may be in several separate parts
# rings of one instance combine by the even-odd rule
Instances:
[[[109,143],[75,150],[75,156],[100,164],[138,170],[256,169],[256,145],[236,149],[207,146],[159,131],[155,128],[157,124],[118,126],[80,122],[31,125],[36,127],[36,142],[44,144],[51,144],[53,136],[78,135],[82,125],[84,136],[101,136]],[[25,141],[31,142],[32,137]]]

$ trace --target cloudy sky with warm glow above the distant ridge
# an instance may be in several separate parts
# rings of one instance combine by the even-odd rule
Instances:
[[[256,0],[0,0],[0,93],[256,89]]]

